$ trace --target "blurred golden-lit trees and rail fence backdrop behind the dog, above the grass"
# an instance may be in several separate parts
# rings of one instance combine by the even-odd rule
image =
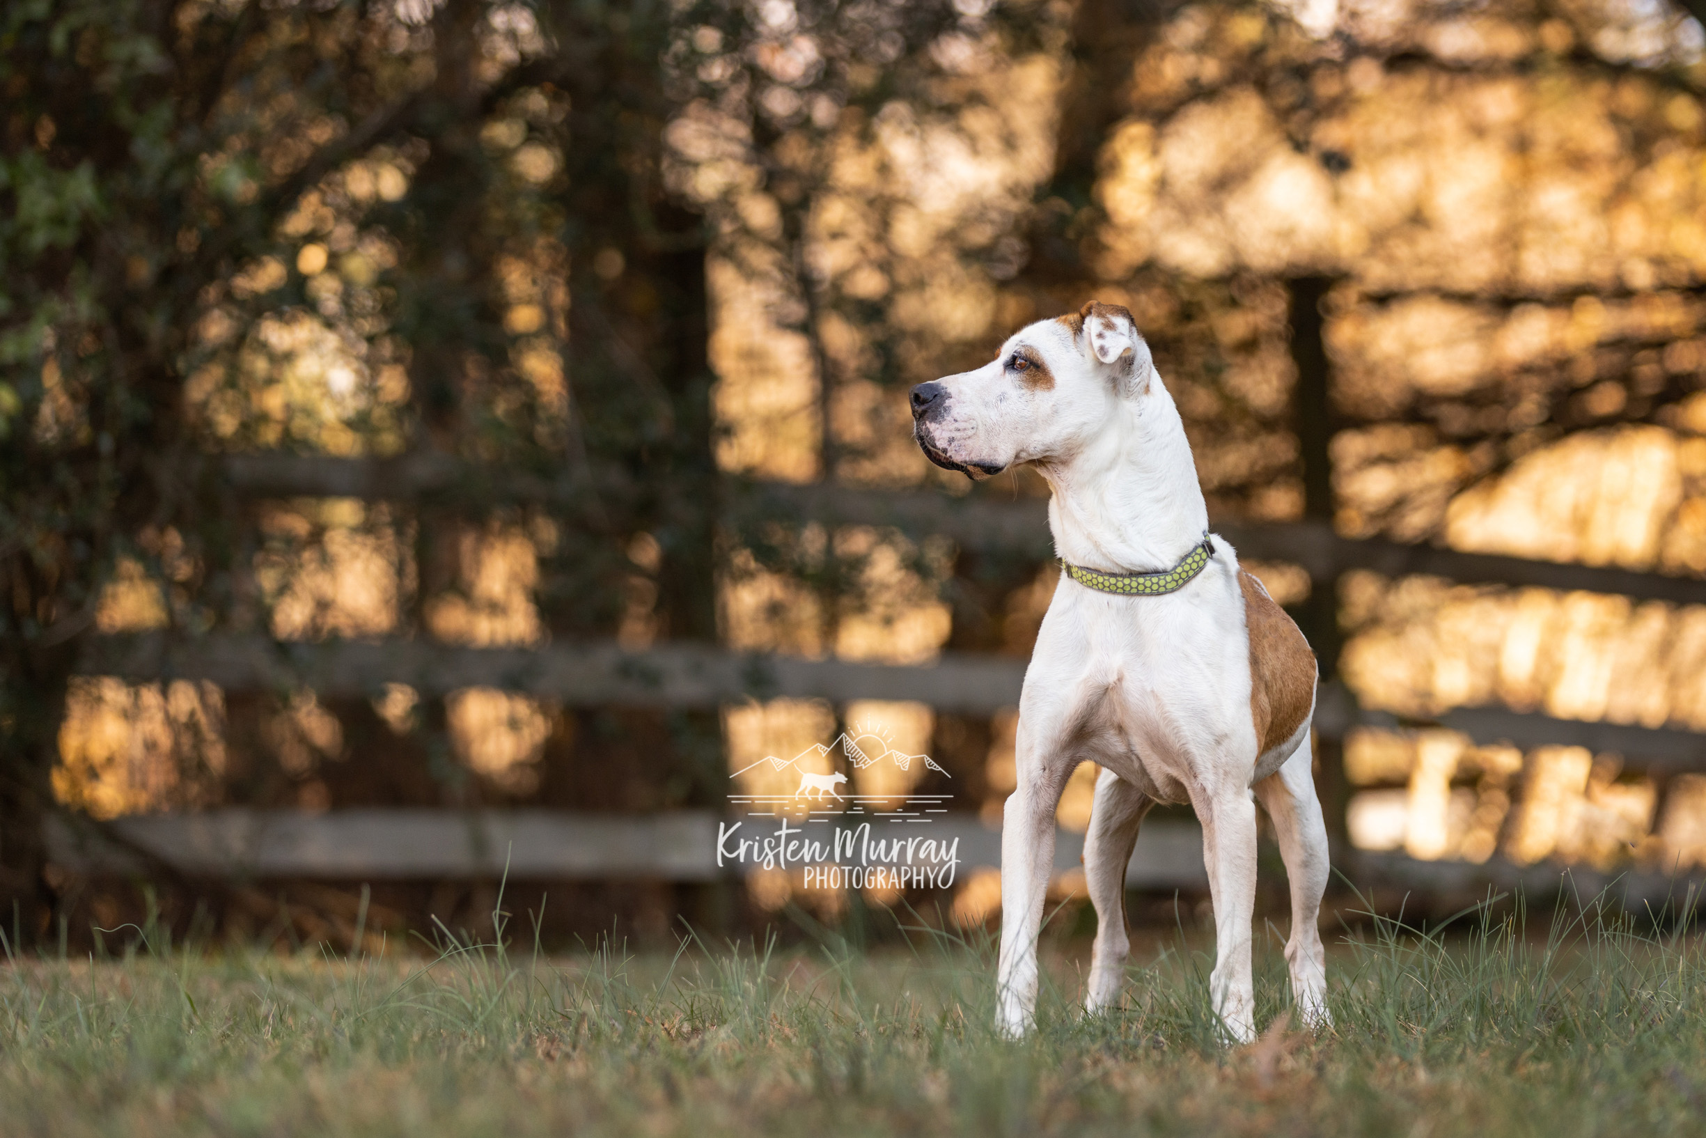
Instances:
[[[1706,872],[1703,14],[7,5],[9,937],[396,943],[505,865],[558,942],[995,920],[1047,491],[928,466],[904,392],[1092,299],[1320,657],[1341,908],[1662,904]],[[862,727],[940,766],[848,773],[950,795],[952,889],[717,868],[761,759]],[[1131,880],[1206,903],[1189,810]]]

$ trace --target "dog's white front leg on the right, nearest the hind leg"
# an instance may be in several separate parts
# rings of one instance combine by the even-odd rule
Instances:
[[[1215,971],[1208,990],[1221,1029],[1237,1042],[1256,1039],[1250,983],[1250,920],[1256,911],[1256,800],[1244,787],[1223,787],[1196,807],[1203,824],[1203,862],[1215,904]]]

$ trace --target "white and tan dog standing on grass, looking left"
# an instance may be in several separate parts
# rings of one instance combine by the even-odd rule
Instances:
[[[1036,466],[1054,491],[1049,529],[1068,566],[1169,570],[1208,534],[1184,423],[1123,307],[1088,304],[1020,329],[991,363],[914,387],[913,420],[937,466],[974,479]],[[1042,619],[1018,703],[1018,788],[1001,824],[998,1022],[1012,1036],[1032,1025],[1054,809],[1085,761],[1102,768],[1083,848],[1099,925],[1087,1010],[1119,996],[1138,824],[1157,802],[1187,802],[1215,904],[1215,1012],[1233,1039],[1256,1036],[1261,802],[1291,880],[1291,993],[1305,1022],[1327,1020],[1315,928],[1327,831],[1309,747],[1315,657],[1232,546],[1210,537],[1208,548],[1201,572],[1160,595],[1117,595],[1066,573]]]

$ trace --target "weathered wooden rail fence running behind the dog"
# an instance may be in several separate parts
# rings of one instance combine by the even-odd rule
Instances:
[[[225,461],[229,483],[242,495],[358,496],[367,500],[433,500],[454,505],[478,488],[478,500],[549,505],[577,493],[572,481],[519,478],[503,469],[469,467],[438,456],[404,459],[324,459],[299,456],[239,456]],[[1049,551],[1046,502],[954,498],[928,491],[872,491],[838,486],[793,486],[730,481],[722,508],[730,517],[764,517],[824,525],[885,525],[911,537],[943,534],[962,546],[1005,549],[1042,560]],[[445,502],[449,500],[449,502]],[[1317,595],[1329,602],[1348,570],[1389,577],[1426,573],[1464,584],[1534,585],[1558,590],[1617,594],[1639,601],[1706,604],[1706,582],[1616,568],[1559,565],[1506,556],[1459,553],[1423,544],[1348,539],[1326,520],[1247,524],[1216,519],[1245,558],[1303,566]],[[1327,609],[1331,613],[1331,607]],[[1305,621],[1309,614],[1305,613]],[[1315,711],[1324,754],[1336,761],[1338,740],[1358,725],[1418,727],[1384,711],[1360,708],[1334,677],[1336,628],[1310,630],[1329,643],[1322,652],[1322,696]],[[626,650],[614,642],[553,643],[544,648],[464,648],[430,642],[281,643],[261,635],[210,635],[176,640],[160,633],[96,638],[84,671],[133,682],[206,679],[225,689],[312,688],[331,694],[372,694],[386,682],[404,682],[423,694],[490,686],[549,698],[570,706],[626,705],[643,708],[717,708],[749,698],[916,700],[940,711],[993,713],[1018,701],[1024,662],[947,653],[933,664],[899,667],[746,653],[701,643],[664,643]],[[1655,773],[1706,769],[1706,735],[1619,723],[1563,720],[1506,708],[1457,708],[1436,720],[1476,742],[1585,746],[1626,756],[1631,766]],[[1327,800],[1339,810],[1343,785]],[[210,816],[128,819],[126,841],[184,868],[249,875],[493,875],[500,848],[512,872],[561,877],[672,877],[705,880],[715,833],[711,816],[682,812],[665,817],[566,816],[541,812],[409,812],[351,810],[333,816],[217,812]],[[947,822],[945,822],[947,824]],[[995,865],[998,841],[972,817],[966,829],[967,865]],[[1148,831],[1145,831],[1148,833]],[[1339,829],[1343,834],[1343,829]],[[701,841],[703,838],[703,841]],[[1075,863],[1078,838],[1063,834],[1063,865]],[[1140,845],[1133,884],[1187,887],[1201,882],[1194,827],[1167,829]],[[1518,870],[1498,860],[1486,867],[1438,867],[1397,855],[1356,855],[1341,845],[1341,863],[1361,875],[1418,887],[1464,887],[1465,882],[1558,882],[1551,868]],[[75,865],[123,868],[126,855],[70,821],[53,831],[56,856]],[[1467,875],[1467,877],[1465,877]],[[1532,880],[1530,880],[1532,879]],[[1650,903],[1670,885],[1653,875],[1622,885],[1629,899]]]

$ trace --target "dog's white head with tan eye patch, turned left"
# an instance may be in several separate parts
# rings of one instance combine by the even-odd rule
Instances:
[[[1073,454],[1153,375],[1131,312],[1092,300],[1018,329],[978,370],[913,387],[913,437],[937,466],[989,478]]]

